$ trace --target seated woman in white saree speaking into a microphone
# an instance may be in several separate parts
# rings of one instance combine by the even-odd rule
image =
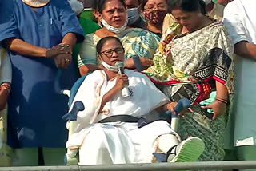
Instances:
[[[198,137],[179,143],[177,133],[166,121],[138,129],[139,117],[154,109],[174,111],[176,103],[170,102],[145,74],[133,70],[118,74],[116,63],[125,59],[122,42],[116,37],[102,38],[97,52],[102,70],[88,75],[74,97],[74,101],[83,102],[85,110],[78,113],[77,129],[66,143],[69,157],[79,149],[79,165],[150,163],[155,152],[164,153],[170,162],[197,161],[204,150]],[[129,97],[122,96],[126,86]]]

